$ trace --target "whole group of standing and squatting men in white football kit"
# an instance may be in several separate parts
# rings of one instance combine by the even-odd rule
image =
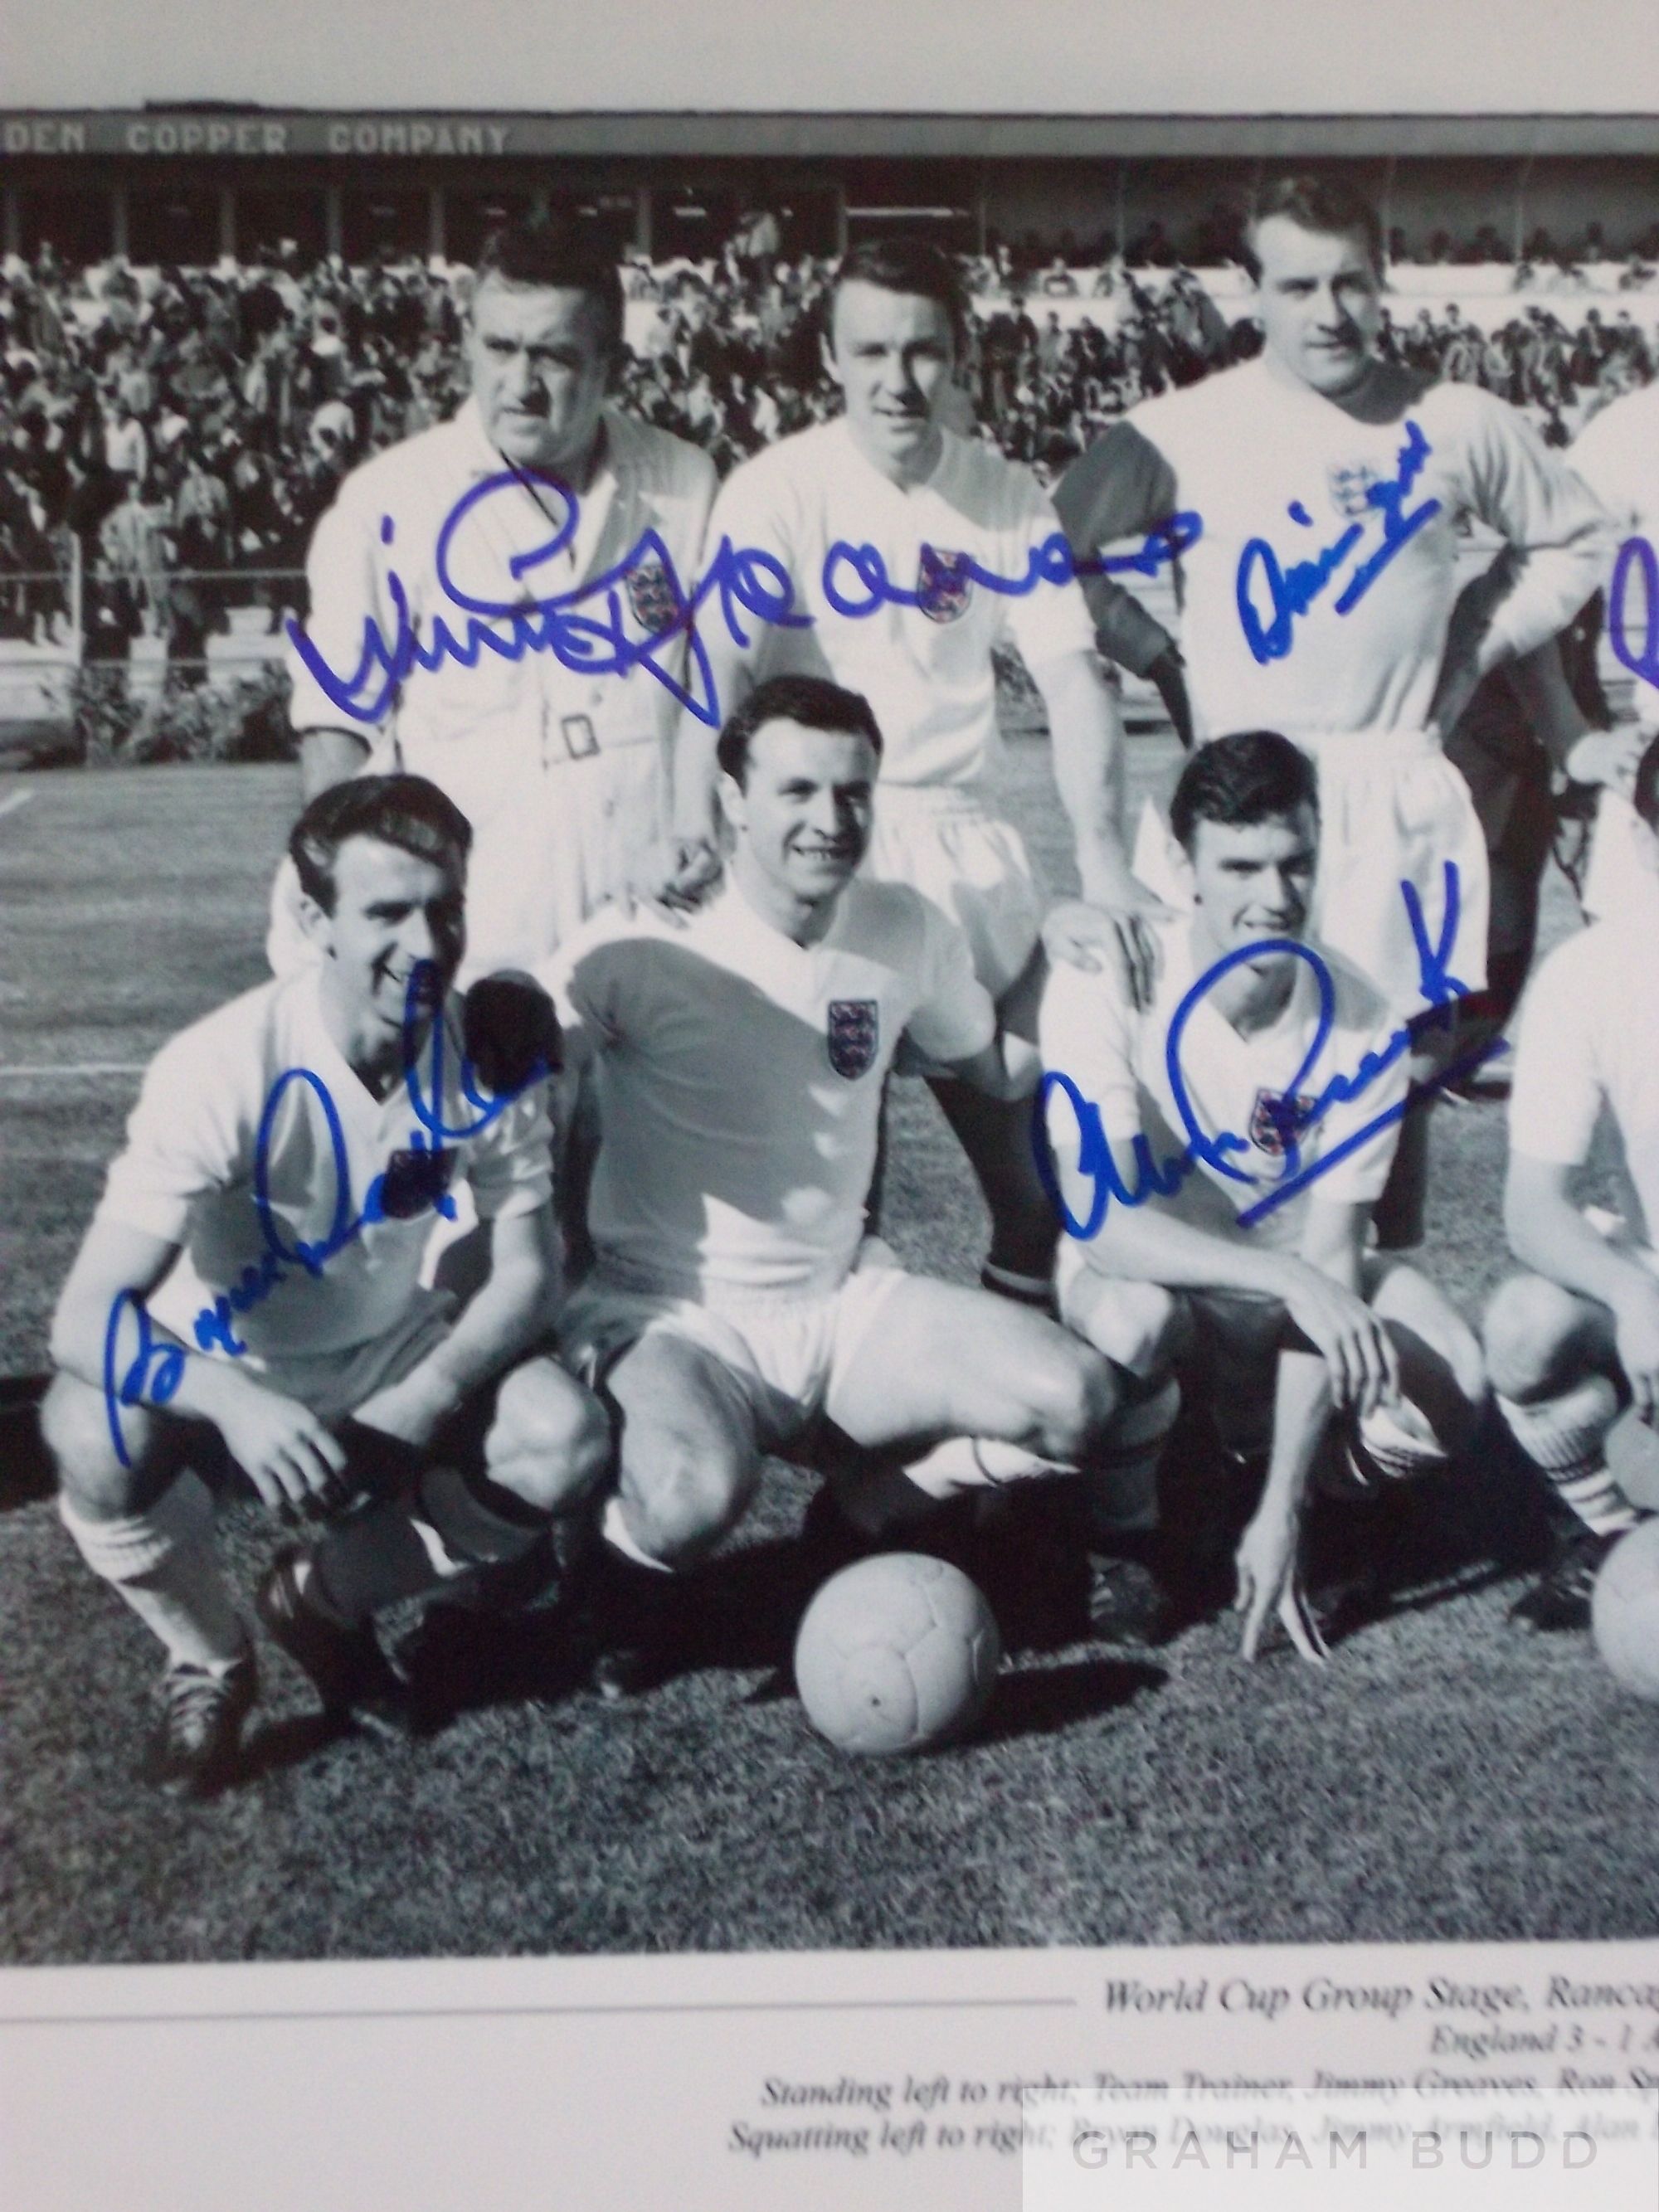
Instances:
[[[659,1681],[672,1584],[739,1526],[768,1453],[830,1471],[821,1571],[1040,1478],[1082,1553],[1179,1577],[1159,1460],[1186,1400],[1214,1482],[1256,1484],[1243,1655],[1279,1624],[1323,1661],[1314,1486],[1455,1467],[1491,1374],[1579,1531],[1517,1613],[1586,1619],[1639,1511],[1608,1429],[1628,1402],[1659,1425],[1635,909],[1531,987],[1506,1190],[1528,1272],[1484,1345],[1391,1250],[1416,1228],[1383,1208],[1378,1239],[1376,1217],[1422,1115],[1425,1004],[1482,980],[1482,841],[1440,732],[1577,611],[1608,522],[1509,409],[1378,358],[1360,201],[1274,186],[1250,250],[1265,358],[1139,409],[1060,493],[1079,555],[1201,518],[1179,655],[1157,650],[1166,686],[1190,675],[1199,745],[1148,883],[1091,622],[1128,635],[1124,604],[1097,582],[1086,604],[1035,478],[947,427],[964,303],[942,254],[845,259],[825,325],[845,414],[739,467],[706,538],[708,462],[606,400],[613,272],[564,234],[489,252],[473,398],[319,529],[279,980],[157,1055],[58,1310],[62,1515],[164,1646],[161,1785],[230,1778],[257,1697],[215,1551],[234,1491],[314,1524],[254,1595],[270,1637],[327,1712],[403,1732],[376,1615],[560,1579],[555,1557],[602,1694]],[[445,538],[458,507],[473,520]],[[1460,513],[1511,542],[1462,593]],[[650,531],[661,575],[630,557]],[[723,542],[768,555],[801,619],[743,644],[703,622],[719,730],[670,730],[637,664],[431,650],[467,595],[504,619],[502,575],[546,611],[617,562],[648,646]],[[425,659],[380,666],[405,622]],[[1048,712],[1079,900],[1040,891],[987,796],[1002,646]],[[378,714],[349,712],[376,668]],[[1659,750],[1635,814],[1659,878]],[[453,984],[502,967],[557,1002],[564,1075],[500,1035],[482,1053]],[[878,1237],[896,1066],[929,1073],[991,1206],[980,1290]],[[575,1097],[597,1164],[566,1285],[551,1128]],[[1604,1108],[1628,1190],[1586,1214],[1568,1183]],[[462,1192],[482,1254],[445,1290]]]

